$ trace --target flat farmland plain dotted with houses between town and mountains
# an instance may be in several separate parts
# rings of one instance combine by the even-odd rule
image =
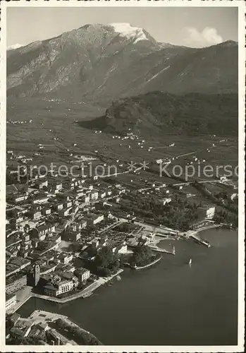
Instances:
[[[198,179],[206,179],[203,167],[238,165],[238,140],[226,136],[137,136],[134,140],[124,140],[111,134],[96,133],[80,127],[76,121],[92,119],[103,114],[105,107],[70,102],[48,102],[37,99],[23,99],[8,102],[7,150],[18,155],[32,157],[32,164],[49,164],[67,167],[77,163],[75,155],[95,157],[96,164],[115,165],[118,172],[128,169],[131,161],[141,167],[144,161],[147,169],[136,173],[118,175],[119,181],[126,184],[142,185],[140,179],[171,182],[171,179],[158,174],[156,160],[169,160],[166,170],[173,170],[178,164],[185,170],[192,164],[201,173]],[[15,124],[12,122],[16,121]],[[114,138],[113,138],[114,137]],[[144,142],[142,142],[144,141]],[[42,146],[40,146],[42,145]],[[42,147],[42,148],[40,148]],[[36,154],[36,155],[35,155]],[[39,154],[39,155],[37,155]],[[73,156],[71,156],[73,155]],[[7,159],[8,160],[8,159]],[[13,160],[8,160],[13,164]],[[156,173],[149,172],[148,167]],[[191,167],[190,167],[191,168]],[[113,170],[113,169],[112,169]],[[178,173],[178,171],[177,171]],[[223,173],[221,173],[223,174]],[[214,179],[211,177],[211,179]],[[133,181],[132,181],[133,180]],[[173,183],[177,183],[173,179]]]

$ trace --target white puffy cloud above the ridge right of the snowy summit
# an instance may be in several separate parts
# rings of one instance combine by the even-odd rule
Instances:
[[[195,27],[186,27],[184,30],[185,44],[190,47],[209,47],[209,45],[223,42],[223,38],[216,28],[206,27],[199,32]]]

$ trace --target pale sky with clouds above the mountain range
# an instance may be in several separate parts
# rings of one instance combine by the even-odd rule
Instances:
[[[155,40],[187,47],[238,41],[238,8],[28,8],[7,9],[7,47],[45,40],[87,23],[130,23]]]

